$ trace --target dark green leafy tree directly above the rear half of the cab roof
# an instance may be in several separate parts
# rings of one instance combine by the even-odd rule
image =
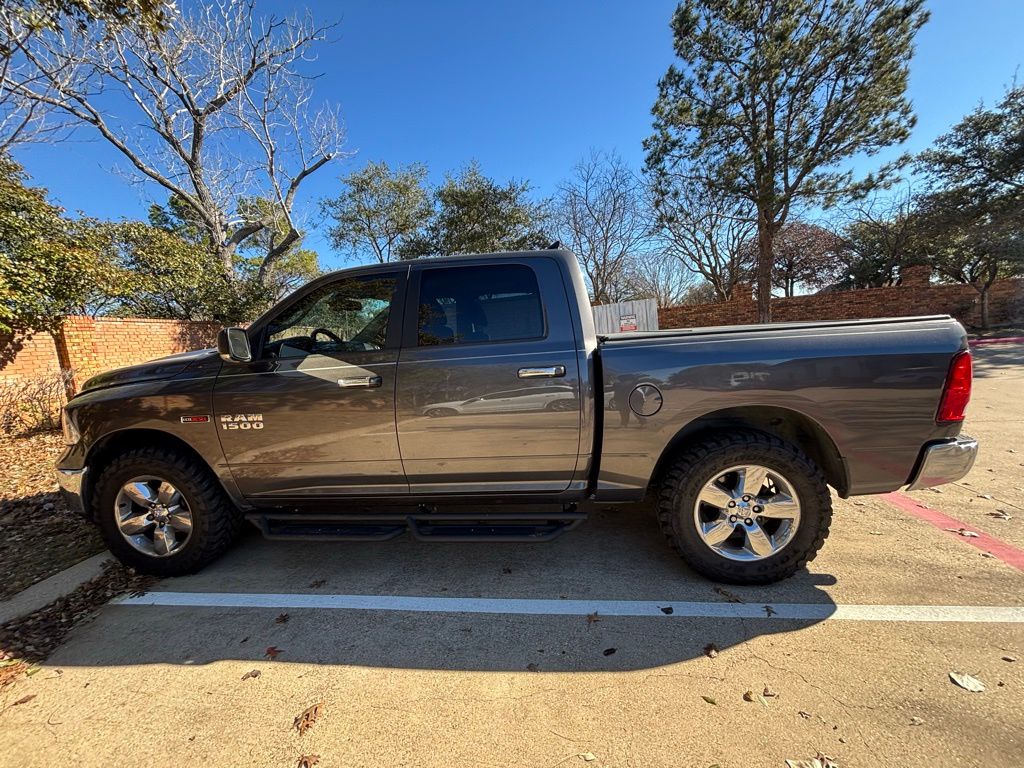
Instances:
[[[529,197],[526,181],[499,184],[476,163],[449,174],[434,191],[435,208],[422,234],[407,240],[402,258],[523,251],[551,242],[548,207]]]

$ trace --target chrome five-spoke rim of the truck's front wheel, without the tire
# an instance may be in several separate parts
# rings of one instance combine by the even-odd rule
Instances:
[[[173,555],[191,536],[191,510],[181,492],[153,475],[122,485],[114,514],[125,541],[151,557]]]

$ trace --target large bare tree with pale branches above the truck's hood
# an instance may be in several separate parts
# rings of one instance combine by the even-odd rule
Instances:
[[[32,34],[5,6],[0,36],[12,53],[0,90],[94,131],[135,179],[179,198],[226,280],[244,243],[280,232],[258,267],[263,284],[301,238],[299,186],[342,142],[337,112],[313,105],[304,72],[326,33],[308,14],[257,17],[254,0],[204,3],[161,28],[129,22]],[[271,205],[241,204],[252,198]]]

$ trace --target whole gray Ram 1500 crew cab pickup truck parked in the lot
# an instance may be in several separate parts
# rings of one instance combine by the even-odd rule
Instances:
[[[767,584],[824,543],[829,485],[965,475],[970,390],[947,316],[598,337],[567,251],[423,259],[327,274],[218,349],[92,378],[57,477],[119,559],[163,575],[243,520],[540,542],[647,498],[695,570]]]

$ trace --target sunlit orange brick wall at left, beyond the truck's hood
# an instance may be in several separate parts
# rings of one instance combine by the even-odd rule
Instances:
[[[36,334],[17,342],[0,338],[0,382],[65,369],[74,371],[77,388],[90,376],[112,368],[213,346],[219,329],[217,323],[66,317],[53,336]]]

